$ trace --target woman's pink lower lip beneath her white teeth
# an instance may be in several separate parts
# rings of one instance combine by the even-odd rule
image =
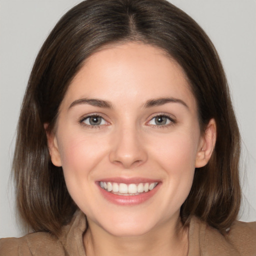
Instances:
[[[143,203],[144,201],[151,198],[158,190],[160,184],[158,183],[154,189],[148,192],[137,194],[137,195],[118,195],[106,191],[105,189],[99,187],[101,194],[110,202],[118,205],[136,205]]]

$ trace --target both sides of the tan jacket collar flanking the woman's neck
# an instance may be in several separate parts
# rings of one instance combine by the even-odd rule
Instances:
[[[71,222],[65,225],[58,237],[70,256],[85,256],[82,236],[86,229],[86,217],[77,210]],[[239,256],[238,251],[217,229],[192,217],[188,232],[189,248],[187,256],[221,255]]]

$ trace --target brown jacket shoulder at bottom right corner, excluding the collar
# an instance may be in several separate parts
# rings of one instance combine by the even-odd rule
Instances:
[[[226,237],[241,255],[256,255],[256,222],[235,221]]]

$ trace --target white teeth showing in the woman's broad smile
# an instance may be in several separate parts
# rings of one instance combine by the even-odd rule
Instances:
[[[117,183],[117,182],[105,182],[100,181],[99,185],[104,190],[117,195],[138,195],[144,192],[148,192],[156,187],[158,182],[145,182],[145,183]]]

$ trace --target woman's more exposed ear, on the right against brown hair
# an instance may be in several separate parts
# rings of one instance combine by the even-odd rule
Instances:
[[[197,148],[195,167],[199,168],[208,162],[216,142],[216,122],[212,118],[209,120],[205,132],[201,135]]]

